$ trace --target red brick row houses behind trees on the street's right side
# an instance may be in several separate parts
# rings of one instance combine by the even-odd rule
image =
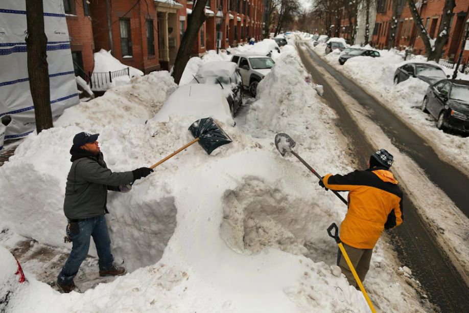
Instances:
[[[397,30],[394,47],[400,50],[406,47],[412,47],[414,54],[425,55],[425,46],[420,38],[412,14],[406,0],[397,1]],[[376,22],[372,36],[370,36],[371,45],[378,49],[388,49],[388,40],[391,30],[393,0],[377,0]],[[419,0],[416,1],[422,22],[431,38],[438,36],[438,28],[443,14],[444,0]],[[450,21],[450,31],[447,43],[443,48],[442,58],[450,61],[456,61],[461,50],[461,43],[467,27],[469,0],[456,1]],[[348,20],[343,20],[348,24]],[[343,36],[347,32],[343,31]],[[467,62],[469,51],[464,52],[464,59]]]

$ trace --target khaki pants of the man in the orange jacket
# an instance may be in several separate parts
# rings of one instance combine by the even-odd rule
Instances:
[[[371,254],[373,253],[373,249],[357,249],[354,247],[350,247],[349,245],[343,243],[345,248],[345,252],[347,252],[348,258],[350,259],[352,265],[355,267],[355,271],[358,274],[360,280],[365,280],[366,273],[368,273],[368,269],[370,268],[370,261],[371,261]],[[347,261],[345,261],[342,252],[339,249],[337,253],[337,265],[340,266],[342,273],[348,280],[348,283],[355,288],[358,288],[357,281],[354,278],[354,274],[350,271]]]

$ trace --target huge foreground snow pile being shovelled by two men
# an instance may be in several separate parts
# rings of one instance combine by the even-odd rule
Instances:
[[[259,85],[246,128],[220,123],[232,143],[212,155],[190,146],[130,192],[109,193],[113,254],[125,259],[132,273],[84,294],[59,294],[28,275],[30,283],[11,297],[9,311],[368,311],[362,294],[331,265],[337,245],[326,228],[339,222],[346,208],[273,144],[275,133],[285,131],[324,174],[351,169],[335,115],[305,75],[295,50],[284,48]],[[169,79],[138,82],[141,89],[140,84],[115,88],[107,102],[77,105],[73,119],[65,115],[60,126],[30,135],[17,148],[0,167],[3,228],[70,248],[61,240],[62,203],[68,149],[79,131],[100,132],[101,150],[114,171],[154,164],[193,139],[187,131],[193,117],[183,107],[169,121],[157,121],[151,118],[158,106],[140,101],[145,95],[131,95],[135,88],[168,94]],[[135,116],[132,97],[142,97]],[[113,102],[116,114],[98,108]],[[127,104],[130,120],[122,114]],[[380,241],[365,286],[381,311],[419,310],[389,250]],[[389,295],[400,295],[400,301]]]

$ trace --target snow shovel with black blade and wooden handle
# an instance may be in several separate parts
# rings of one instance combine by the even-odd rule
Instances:
[[[154,169],[161,163],[167,161],[168,159],[171,159],[172,157],[174,157],[174,155],[178,154],[190,145],[195,144],[196,142],[199,142],[199,144],[208,154],[212,153],[213,150],[215,150],[216,148],[232,142],[231,138],[226,135],[226,133],[223,131],[223,129],[221,129],[221,127],[215,124],[212,118],[205,118],[195,121],[194,123],[192,123],[191,126],[189,126],[189,131],[191,131],[192,136],[194,136],[195,138],[193,141],[180,147],[179,149],[168,155],[168,157],[166,157],[165,159],[162,159],[161,161],[150,166],[150,168]],[[133,183],[120,187],[122,188],[121,191],[129,191],[132,188]]]

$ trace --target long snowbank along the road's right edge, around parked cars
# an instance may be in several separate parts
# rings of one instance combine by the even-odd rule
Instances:
[[[316,53],[323,55],[323,49],[319,46],[313,49]],[[329,54],[324,58],[337,70],[353,78],[359,85],[366,87],[381,103],[420,133],[420,136],[432,143],[432,147],[441,158],[457,164],[458,168],[469,173],[469,153],[467,153],[469,151],[469,138],[439,130],[435,126],[436,121],[429,114],[420,110],[428,84],[412,77],[397,85],[393,84],[394,72],[399,66],[408,62],[427,63],[426,57],[416,56],[411,60],[404,61],[402,56],[396,54],[394,50],[378,51],[380,57],[353,57],[348,59],[344,65],[339,64],[338,54]],[[437,65],[433,61],[429,63]],[[453,74],[454,70],[441,68],[447,75]],[[469,80],[469,76],[458,73],[458,79]]]

